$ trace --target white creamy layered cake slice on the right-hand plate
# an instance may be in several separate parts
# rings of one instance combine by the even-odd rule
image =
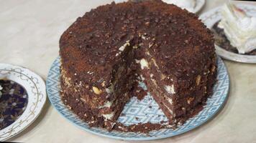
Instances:
[[[219,28],[230,44],[237,48],[239,54],[248,53],[256,49],[256,17],[248,16],[234,4],[224,4],[221,9]]]

